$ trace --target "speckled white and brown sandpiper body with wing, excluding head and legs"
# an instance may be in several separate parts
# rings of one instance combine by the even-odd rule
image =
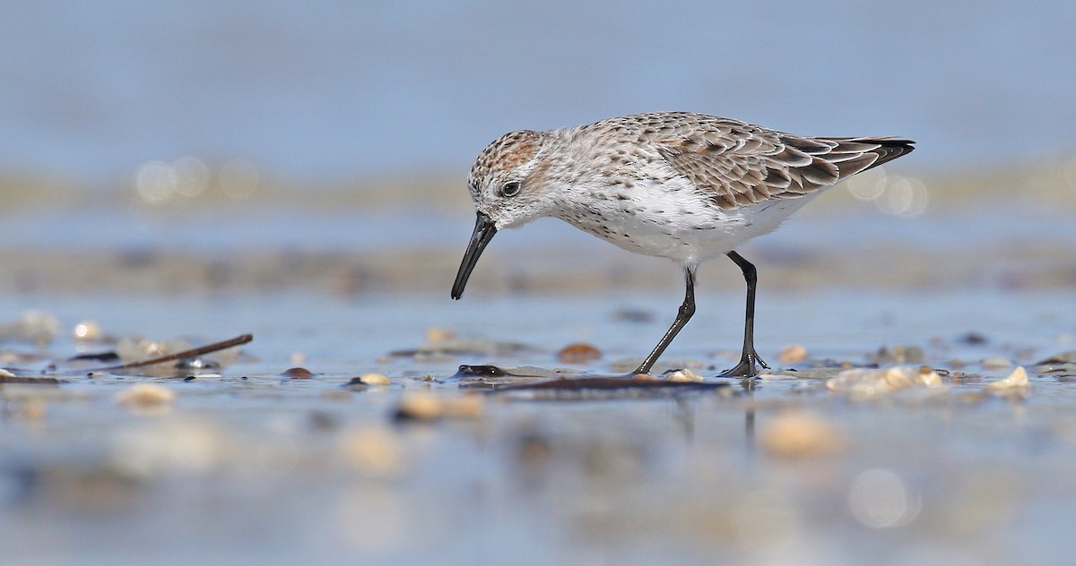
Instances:
[[[914,149],[684,112],[547,132],[556,216],[622,248],[694,264],[768,233],[827,187]]]

